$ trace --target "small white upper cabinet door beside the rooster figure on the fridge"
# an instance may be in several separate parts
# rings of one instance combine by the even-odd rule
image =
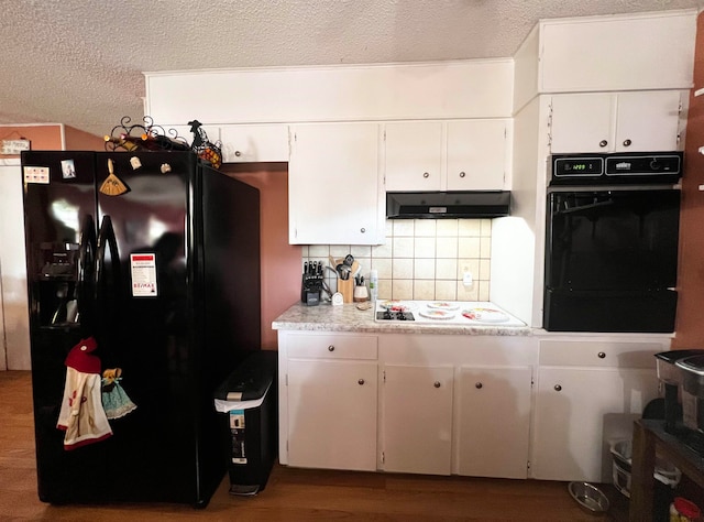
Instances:
[[[223,126],[220,129],[224,163],[288,161],[288,127]]]

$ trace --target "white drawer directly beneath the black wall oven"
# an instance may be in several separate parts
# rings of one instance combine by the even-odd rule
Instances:
[[[543,340],[540,366],[654,369],[654,354],[666,349],[660,342]]]

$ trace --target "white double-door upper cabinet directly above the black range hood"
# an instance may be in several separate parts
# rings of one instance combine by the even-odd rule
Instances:
[[[504,189],[510,129],[507,119],[386,123],[386,191]]]

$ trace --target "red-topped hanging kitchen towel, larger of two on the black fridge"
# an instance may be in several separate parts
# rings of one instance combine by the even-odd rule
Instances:
[[[64,449],[76,449],[112,435],[100,396],[100,359],[94,337],[81,339],[66,357],[66,384],[56,427],[66,432]]]

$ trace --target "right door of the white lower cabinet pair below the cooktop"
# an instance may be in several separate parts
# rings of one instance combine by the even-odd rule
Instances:
[[[527,478],[531,376],[530,367],[460,369],[459,475]]]

